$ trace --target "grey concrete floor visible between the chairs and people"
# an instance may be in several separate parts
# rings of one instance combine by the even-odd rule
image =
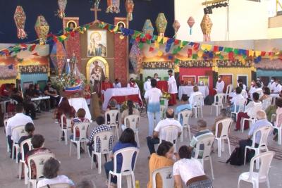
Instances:
[[[214,112],[215,113],[215,112]],[[97,188],[106,187],[106,176],[104,173],[104,168],[102,168],[102,174],[98,174],[98,170],[94,168],[90,169],[90,158],[87,153],[82,154],[80,160],[77,159],[75,151],[73,151],[72,156],[68,156],[69,145],[66,146],[64,142],[59,142],[59,127],[51,119],[52,113],[41,113],[38,115],[38,120],[35,120],[35,133],[43,134],[45,137],[44,146],[51,149],[55,153],[56,158],[61,161],[61,172],[62,175],[67,175],[74,182],[79,182],[82,179],[89,179],[94,182]],[[214,123],[215,115],[210,115],[210,106],[204,106],[204,120],[207,120],[209,126]],[[192,133],[195,133],[197,119],[192,118]],[[92,123],[90,130],[95,126]],[[238,139],[246,138],[247,132],[234,132],[232,128],[231,137],[233,137],[233,142],[231,146],[231,151],[233,151],[235,144],[238,143]],[[4,134],[4,127],[0,127],[0,188],[8,187],[25,187],[23,180],[18,180],[16,176],[18,175],[18,164],[12,161],[6,153],[6,137]],[[135,168],[135,179],[140,181],[140,187],[147,187],[148,180],[148,159],[149,151],[146,144],[147,136],[147,115],[145,112],[142,113],[142,118],[140,120],[140,155],[137,158],[137,165]],[[188,139],[184,138],[184,142],[178,142],[177,148],[183,144],[188,144]],[[275,149],[278,152],[277,158],[271,163],[271,169],[269,171],[269,180],[271,187],[282,187],[282,146],[278,146],[276,142],[269,139],[269,146],[271,149]],[[226,148],[227,149],[227,148]],[[235,188],[238,184],[238,176],[240,173],[249,170],[250,165],[245,166],[233,166],[226,164],[225,161],[228,159],[228,152],[225,151],[221,158],[218,158],[217,151],[215,148],[215,153],[212,154],[212,161],[214,165],[214,187],[230,187]],[[104,160],[104,159],[103,159]],[[102,162],[104,163],[104,162]],[[207,175],[211,175],[209,168],[209,162],[205,163],[205,172]],[[125,186],[125,179],[123,180],[123,187]],[[259,184],[260,187],[266,187],[266,184]],[[243,182],[241,187],[252,187],[251,184]]]

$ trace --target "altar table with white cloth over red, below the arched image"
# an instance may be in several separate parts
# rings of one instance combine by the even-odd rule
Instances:
[[[118,104],[121,104],[124,101],[130,99],[133,102],[138,102],[140,106],[143,105],[139,88],[122,87],[106,89],[106,92],[104,92],[104,102],[102,106],[102,109],[104,111],[106,111],[106,108],[108,107],[109,101],[111,101],[111,99],[116,99]]]

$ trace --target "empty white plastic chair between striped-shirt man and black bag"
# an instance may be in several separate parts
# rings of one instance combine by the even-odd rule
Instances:
[[[221,123],[222,129],[221,129],[221,134],[219,137],[217,135],[219,134],[219,124]],[[223,120],[219,120],[216,122],[216,141],[217,141],[217,150],[218,150],[218,156],[221,157],[221,148],[222,151],[224,151],[224,142],[222,144],[222,141],[227,139],[228,142],[228,149],[229,149],[229,155],[231,155],[231,148],[230,148],[230,140],[229,140],[229,132],[231,130],[231,125],[233,123],[233,120],[231,118],[226,118]]]

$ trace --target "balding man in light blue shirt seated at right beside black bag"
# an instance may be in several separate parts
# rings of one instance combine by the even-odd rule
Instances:
[[[239,141],[240,149],[244,153],[246,146],[252,146],[252,136],[256,130],[262,127],[272,126],[271,123],[266,119],[266,113],[264,111],[257,111],[257,121],[252,124],[249,132],[247,133],[247,139]],[[255,137],[255,147],[259,146],[261,134],[256,134]],[[250,157],[247,157],[247,161],[250,161]]]

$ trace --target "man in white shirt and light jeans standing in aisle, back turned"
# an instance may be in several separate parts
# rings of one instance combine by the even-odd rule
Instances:
[[[160,98],[163,96],[161,89],[157,88],[157,80],[151,80],[151,89],[145,92],[144,98],[147,104],[147,116],[149,121],[148,135],[152,136],[154,130],[154,120],[156,125],[161,120],[161,104]]]

